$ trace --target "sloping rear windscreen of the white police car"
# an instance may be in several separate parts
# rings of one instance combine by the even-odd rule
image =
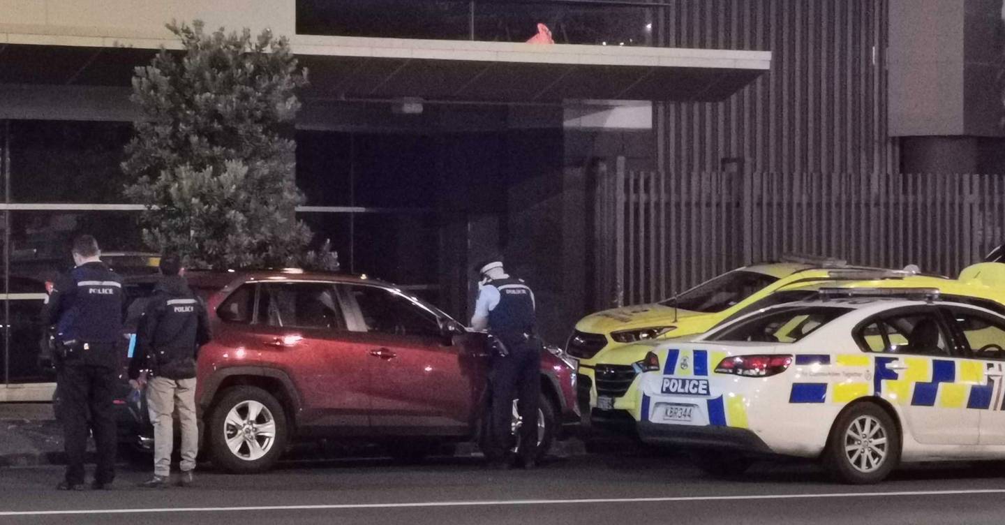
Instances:
[[[838,307],[784,308],[741,321],[706,340],[795,343],[850,311]]]

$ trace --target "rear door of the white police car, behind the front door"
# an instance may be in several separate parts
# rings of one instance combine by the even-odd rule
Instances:
[[[858,337],[883,354],[875,357],[876,393],[899,405],[915,441],[977,445],[980,416],[967,408],[972,365],[959,354],[939,307],[886,312],[863,323]],[[876,341],[882,343],[873,347]]]

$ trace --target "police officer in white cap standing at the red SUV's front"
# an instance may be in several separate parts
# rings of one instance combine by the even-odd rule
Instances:
[[[538,398],[541,394],[541,343],[535,334],[534,292],[502,269],[501,258],[479,262],[478,299],[471,318],[475,330],[487,330],[496,342],[491,365],[489,436],[485,456],[495,468],[508,468],[513,449],[513,399],[520,399],[519,463],[535,467],[538,447]],[[500,343],[500,344],[498,344]]]

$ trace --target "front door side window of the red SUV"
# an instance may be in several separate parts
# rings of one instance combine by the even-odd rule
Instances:
[[[438,337],[439,320],[432,312],[384,288],[349,285],[346,287],[366,325],[367,332]]]

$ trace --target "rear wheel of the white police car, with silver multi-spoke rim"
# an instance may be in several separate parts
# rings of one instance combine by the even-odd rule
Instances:
[[[873,403],[852,405],[834,422],[824,460],[838,481],[882,481],[900,461],[900,434],[893,418]]]

